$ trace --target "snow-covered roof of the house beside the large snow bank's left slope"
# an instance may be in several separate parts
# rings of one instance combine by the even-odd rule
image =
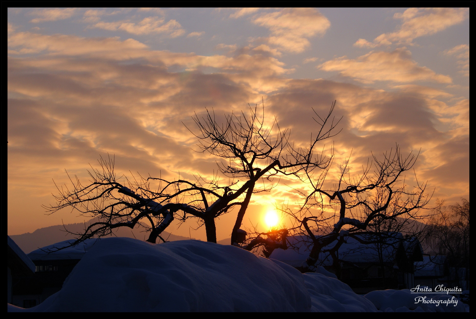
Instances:
[[[68,246],[74,240],[68,240],[63,242],[57,242],[52,245],[48,245],[42,248],[39,248],[35,251],[31,251],[28,254],[31,260],[65,260],[65,259],[81,259],[84,254],[91,249],[91,247],[95,244],[95,242],[99,241],[100,239],[91,238],[87,239],[84,242],[79,243],[76,246],[68,247],[59,251],[53,252],[46,252],[50,250],[54,250],[54,248],[62,248]]]

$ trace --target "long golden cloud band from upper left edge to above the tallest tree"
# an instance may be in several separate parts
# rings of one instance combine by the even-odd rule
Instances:
[[[239,81],[248,81],[248,85],[263,92],[269,91],[268,79],[277,75],[291,72],[284,68],[284,63],[270,57],[262,50],[242,50],[234,57],[223,55],[198,56],[189,53],[175,53],[170,51],[155,51],[137,40],[119,38],[81,38],[66,35],[40,35],[31,32],[11,33],[8,38],[10,54],[45,52],[52,56],[83,56],[89,58],[106,58],[110,60],[146,59],[154,64],[166,67],[181,66],[188,71],[201,68],[216,68],[217,72],[230,75],[236,74]],[[266,54],[261,54],[266,53]],[[246,73],[242,77],[238,73]]]

